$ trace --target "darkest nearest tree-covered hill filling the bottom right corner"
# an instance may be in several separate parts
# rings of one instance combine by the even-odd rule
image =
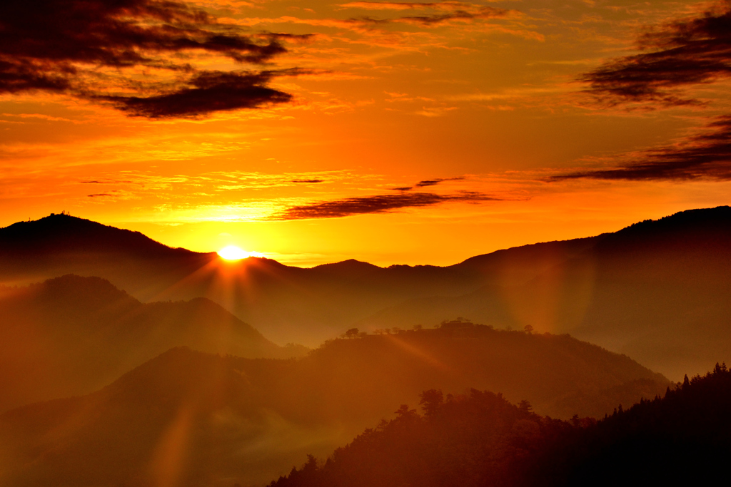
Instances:
[[[719,367],[598,422],[558,421],[472,389],[397,417],[270,487],[713,485],[731,454],[731,372]]]

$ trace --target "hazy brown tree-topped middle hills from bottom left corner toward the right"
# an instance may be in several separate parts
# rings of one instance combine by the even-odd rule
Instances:
[[[568,418],[669,383],[571,337],[465,323],[333,340],[298,360],[175,348],[94,394],[0,415],[0,485],[262,485],[425,388],[470,384]]]

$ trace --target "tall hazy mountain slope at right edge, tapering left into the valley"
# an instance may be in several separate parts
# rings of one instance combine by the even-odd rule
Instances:
[[[433,326],[465,316],[569,333],[679,380],[731,358],[731,209],[630,226],[525,283],[485,285],[381,310],[363,328]]]

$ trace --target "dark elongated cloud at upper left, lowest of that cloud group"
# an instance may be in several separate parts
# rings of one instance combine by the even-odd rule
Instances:
[[[267,88],[273,72],[202,72],[189,85],[157,96],[99,96],[119,110],[146,118],[195,117],[209,112],[256,108],[289,101],[292,95]]]

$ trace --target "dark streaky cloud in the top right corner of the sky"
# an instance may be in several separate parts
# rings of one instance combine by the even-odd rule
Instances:
[[[645,52],[585,74],[581,80],[588,83],[588,91],[608,104],[697,104],[683,98],[678,88],[731,74],[731,2],[700,18],[654,28],[640,37],[639,47]]]

